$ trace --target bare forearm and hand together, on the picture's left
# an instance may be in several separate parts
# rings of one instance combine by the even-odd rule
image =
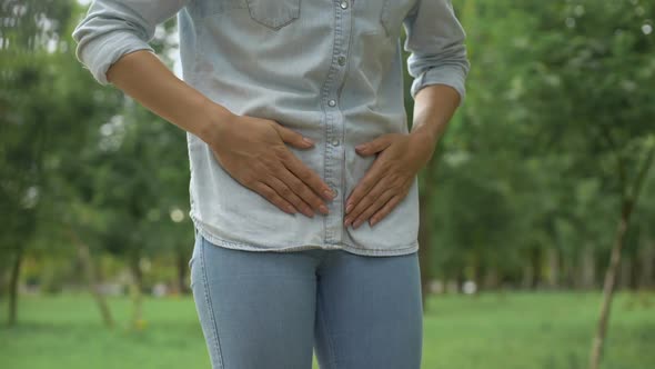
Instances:
[[[175,77],[152,52],[122,56],[107,79],[163,119],[210,144],[221,167],[241,184],[281,210],[308,217],[328,213],[321,199],[332,190],[286,148],[312,148],[301,134],[278,122],[236,116]],[[328,193],[324,193],[328,191]]]

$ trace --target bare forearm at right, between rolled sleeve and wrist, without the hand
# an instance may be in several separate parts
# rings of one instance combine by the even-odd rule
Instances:
[[[460,93],[446,84],[430,84],[416,93],[411,136],[432,152],[460,106]]]

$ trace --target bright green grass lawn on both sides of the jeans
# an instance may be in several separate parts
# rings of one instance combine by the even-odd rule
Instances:
[[[425,316],[423,368],[586,368],[599,298],[434,297]],[[649,306],[632,295],[615,300],[603,368],[655,368],[655,295],[647,299]],[[0,303],[4,318],[6,301]],[[191,298],[145,300],[142,331],[127,328],[127,299],[112,299],[111,307],[119,320],[113,331],[101,325],[88,296],[23,297],[20,325],[0,328],[0,368],[209,368]]]

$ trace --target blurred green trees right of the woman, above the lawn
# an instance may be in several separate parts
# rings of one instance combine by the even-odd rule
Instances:
[[[437,273],[574,286],[585,253],[606,266],[622,192],[653,150],[655,4],[457,3],[472,70],[433,180]],[[653,177],[633,256],[653,247]]]

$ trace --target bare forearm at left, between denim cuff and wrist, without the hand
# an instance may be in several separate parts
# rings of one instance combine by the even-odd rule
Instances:
[[[158,116],[214,141],[234,114],[173,74],[152,52],[139,50],[121,57],[107,71],[109,82]]]

